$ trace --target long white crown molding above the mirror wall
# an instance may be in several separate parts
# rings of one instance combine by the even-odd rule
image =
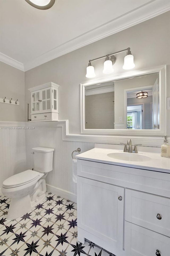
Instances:
[[[84,34],[79,35],[39,57],[33,59],[30,62],[24,64],[25,71],[39,66],[45,62],[51,61],[57,57],[67,54],[71,51],[79,49],[90,43],[96,42],[102,38],[108,37],[109,35],[120,32],[131,26],[137,25],[143,21],[154,18],[160,14],[170,10],[169,1],[167,0],[151,0],[143,6],[140,6],[120,17],[117,17],[95,29],[89,30]],[[114,28],[114,29],[113,29]]]

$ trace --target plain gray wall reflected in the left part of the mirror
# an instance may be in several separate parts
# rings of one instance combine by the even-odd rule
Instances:
[[[114,91],[85,96],[85,128],[114,129]]]

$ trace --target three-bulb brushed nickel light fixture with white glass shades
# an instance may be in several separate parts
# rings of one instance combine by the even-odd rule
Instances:
[[[122,68],[123,69],[133,69],[135,67],[135,64],[134,64],[134,61],[133,61],[134,57],[131,54],[130,47],[128,47],[124,50],[116,51],[115,53],[107,54],[107,55],[104,55],[104,56],[101,56],[101,57],[95,58],[95,59],[90,59],[89,63],[88,63],[88,67],[87,67],[86,77],[87,78],[92,78],[92,77],[96,76],[94,67],[92,66],[91,62],[96,61],[97,59],[103,59],[103,58],[105,58],[103,73],[104,74],[113,73],[113,71],[114,71],[113,70],[113,64],[116,62],[116,57],[114,56],[114,54],[122,53],[124,51],[127,51],[127,53],[126,53],[126,56],[124,58],[124,65],[123,65]]]

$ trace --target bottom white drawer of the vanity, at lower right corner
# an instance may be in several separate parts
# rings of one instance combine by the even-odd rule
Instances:
[[[125,221],[125,252],[132,256],[170,255],[170,238]]]

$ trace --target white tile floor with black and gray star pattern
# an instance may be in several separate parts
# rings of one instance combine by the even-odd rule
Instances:
[[[10,199],[0,192],[0,256],[114,256],[77,241],[76,204],[46,192],[43,203],[7,220]]]

